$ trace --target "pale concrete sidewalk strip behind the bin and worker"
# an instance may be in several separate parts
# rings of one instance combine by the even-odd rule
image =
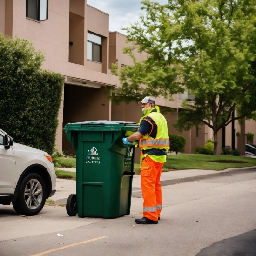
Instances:
[[[61,170],[69,170],[71,168],[60,168]],[[256,171],[256,166],[245,167],[245,168],[230,168],[223,171],[211,171],[211,170],[179,170],[163,172],[161,175],[162,186],[173,185],[183,182],[199,181],[201,179],[206,179],[210,177],[216,177],[218,175],[227,175],[231,173],[249,171],[254,169]],[[75,171],[72,168],[72,171]],[[141,194],[141,175],[134,175],[133,177],[133,189],[132,196],[142,197]],[[67,197],[70,194],[75,194],[75,181],[57,179],[56,182],[56,193],[51,197],[56,203],[66,203]]]

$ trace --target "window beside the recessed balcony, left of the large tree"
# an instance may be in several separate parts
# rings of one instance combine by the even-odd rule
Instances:
[[[101,61],[102,40],[99,35],[87,34],[87,59],[91,61]]]

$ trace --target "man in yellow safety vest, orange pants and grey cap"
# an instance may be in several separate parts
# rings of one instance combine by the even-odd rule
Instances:
[[[169,150],[169,135],[167,122],[155,106],[152,97],[139,101],[143,116],[137,132],[123,138],[124,144],[139,141],[141,148],[141,190],[143,195],[143,218],[136,219],[137,224],[157,224],[162,209],[162,190],[160,176],[162,166],[166,162],[166,152]]]

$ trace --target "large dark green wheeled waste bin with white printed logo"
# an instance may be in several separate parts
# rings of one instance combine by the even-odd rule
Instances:
[[[130,214],[135,146],[126,146],[126,131],[135,122],[87,121],[66,124],[76,149],[76,207],[79,217],[117,218]]]

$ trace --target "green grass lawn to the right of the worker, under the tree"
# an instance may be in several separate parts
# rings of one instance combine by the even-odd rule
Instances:
[[[246,163],[216,163],[216,160],[235,160]],[[231,156],[231,155],[200,155],[200,154],[181,154],[168,155],[165,169],[204,169],[204,170],[224,170],[227,168],[238,168],[256,166],[256,158]]]

